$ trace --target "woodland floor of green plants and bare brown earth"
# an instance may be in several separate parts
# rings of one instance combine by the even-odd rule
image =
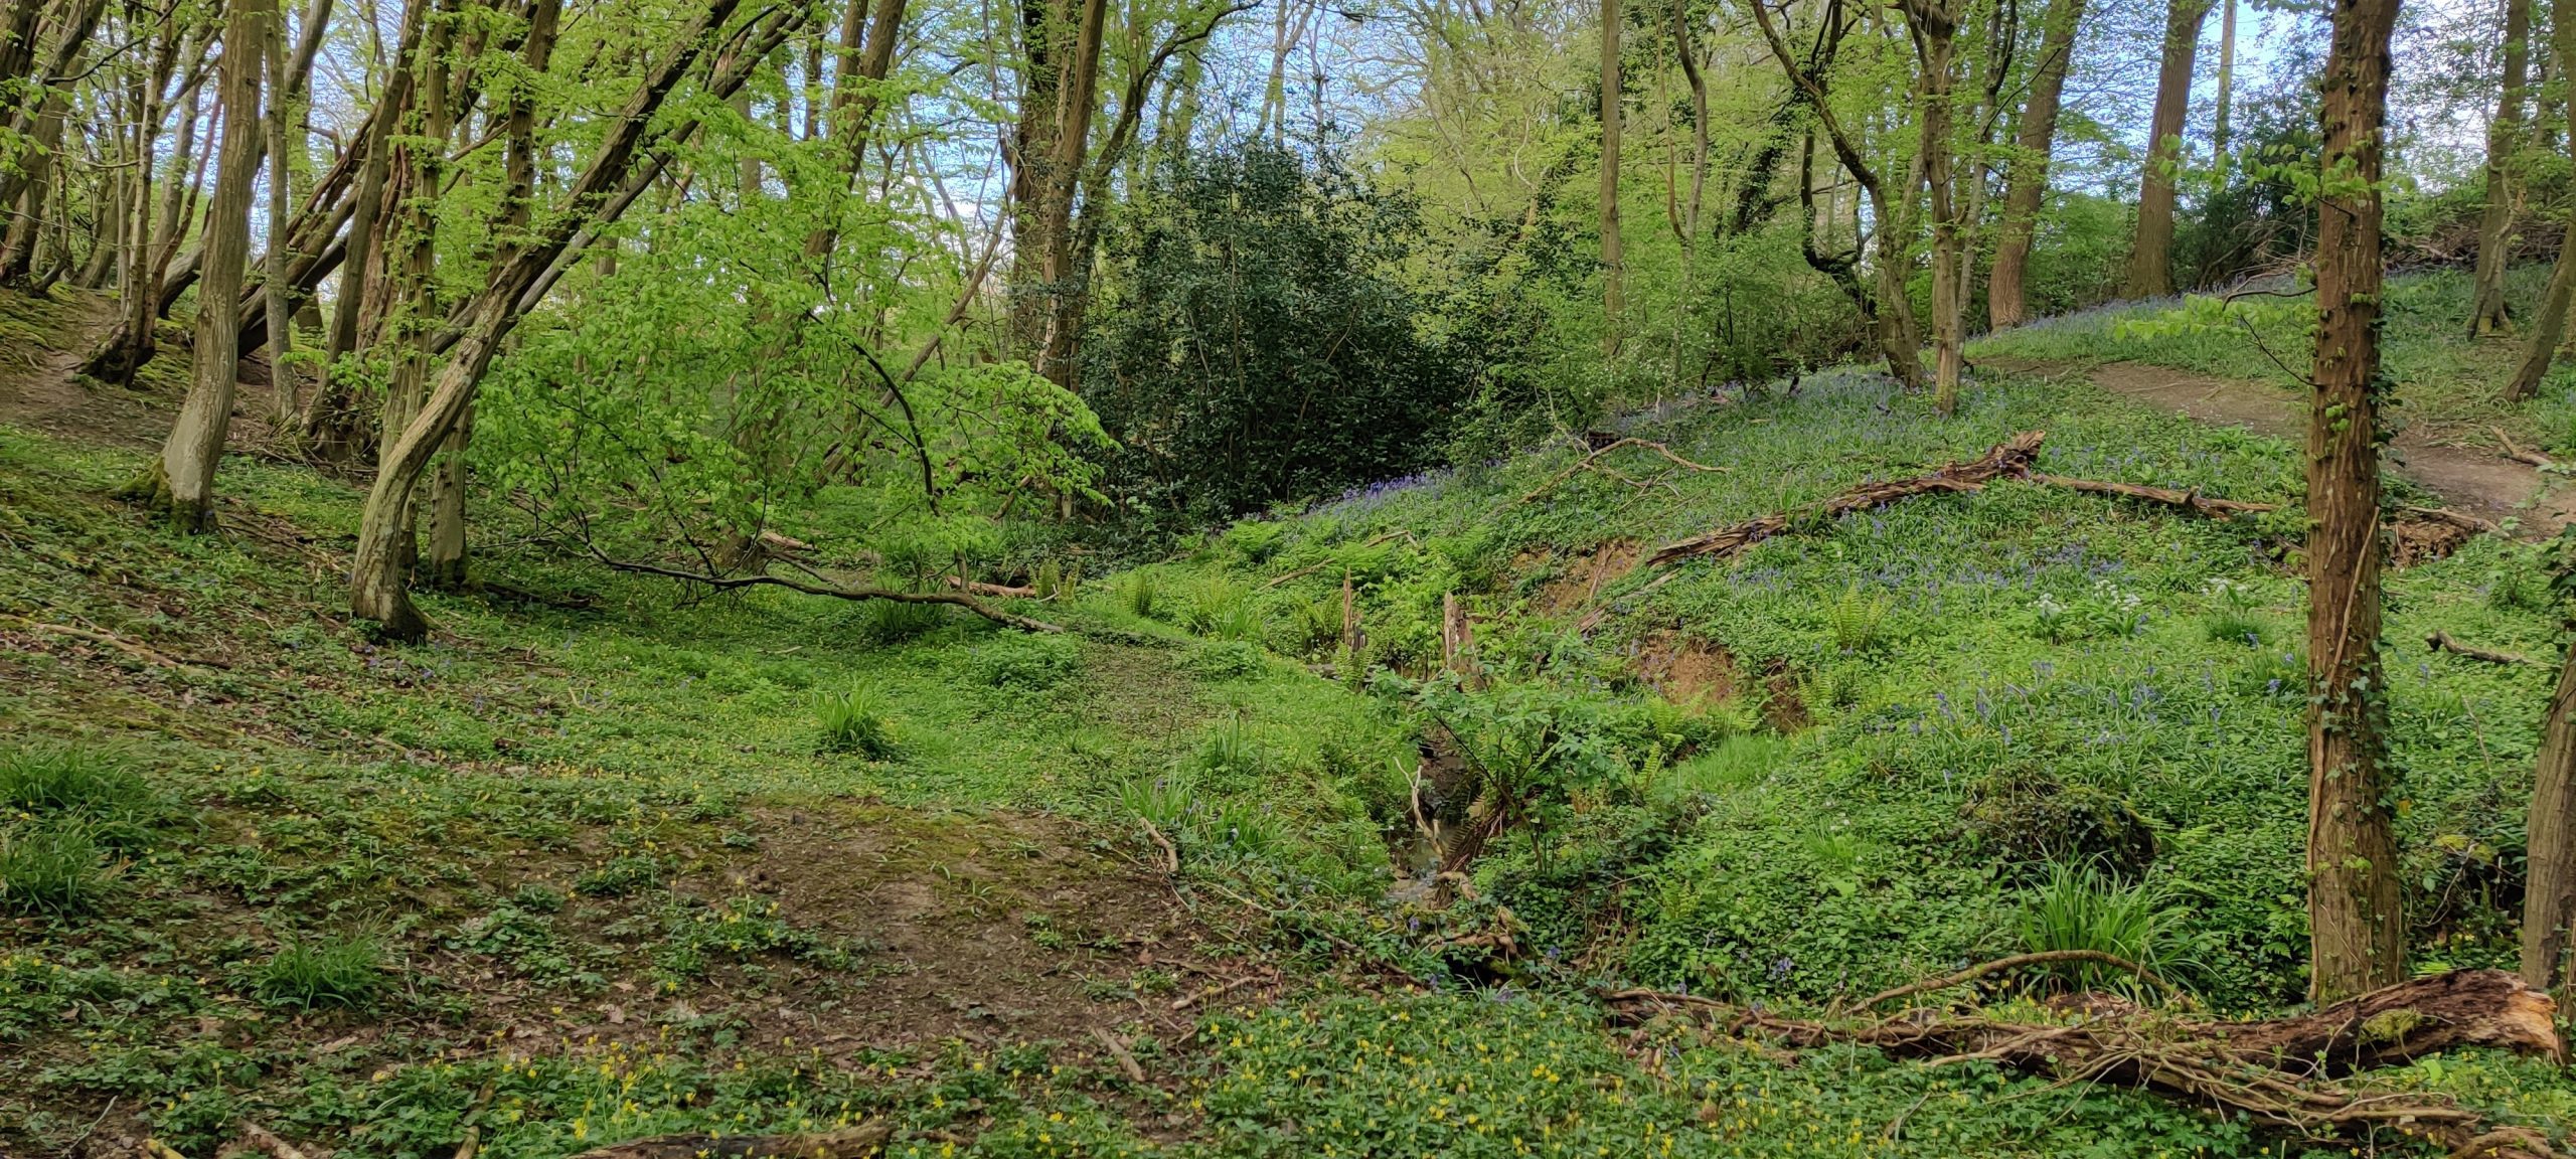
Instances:
[[[0,855],[77,824],[108,865],[80,907],[0,912],[0,1154],[201,1159],[255,1120],[314,1159],[451,1159],[469,1128],[484,1159],[551,1159],[868,1115],[907,1159],[2424,1154],[1978,1061],[1613,1025],[1592,997],[1819,1010],[2020,950],[2045,865],[2102,858],[2138,881],[2117,896],[2179,907],[2146,950],[2192,1010],[2298,1007],[2295,513],[1996,482],[1641,561],[2020,430],[2048,430],[2056,474],[2293,497],[2259,394],[2205,415],[2246,430],[2202,425],[2174,417],[2197,381],[2110,368],[2197,353],[1996,350],[1953,422],[1829,371],[1631,422],[1726,471],[1540,448],[1370,489],[1028,605],[1064,636],[611,577],[492,502],[484,585],[422,592],[435,636],[389,646],[337,603],[348,479],[232,456],[211,538],[106,497],[183,363],[59,381],[95,317],[0,299]],[[2566,453],[2545,410],[2499,417]],[[2427,968],[2512,958],[2548,667],[2411,641],[2545,659],[2530,551],[2481,538],[2391,577]],[[1530,711],[1633,757],[1445,912],[1396,865],[1414,716],[1316,677],[1342,577],[1373,659],[1435,664],[1466,592]],[[832,744],[850,698],[881,744]],[[52,752],[126,786],[116,809],[5,796]],[[1960,1002],[2069,1017],[2022,981]],[[2576,1123],[2530,1059],[2375,1082]]]

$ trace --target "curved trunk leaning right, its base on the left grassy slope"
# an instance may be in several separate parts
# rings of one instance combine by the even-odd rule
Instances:
[[[366,510],[358,523],[358,551],[350,564],[350,610],[376,621],[389,639],[422,639],[428,634],[428,621],[412,608],[402,569],[402,546],[410,538],[410,520],[404,515],[410,513],[412,492],[420,487],[420,474],[474,402],[474,389],[492,366],[492,355],[500,353],[500,343],[533,309],[526,294],[549,276],[556,258],[564,258],[577,240],[613,221],[616,211],[634,201],[623,196],[623,185],[649,142],[654,113],[708,49],[714,31],[734,15],[737,3],[711,0],[696,23],[683,28],[670,59],[644,75],[634,98],[611,121],[590,165],[567,188],[562,211],[551,214],[549,227],[495,268],[489,286],[474,294],[466,306],[469,325],[448,350],[448,361],[438,368],[428,399],[379,458],[376,482],[366,495]],[[719,62],[716,80],[708,82],[711,95],[732,95],[757,59],[768,57],[783,41],[793,18],[778,13],[768,15],[768,21],[773,23],[765,33],[747,36],[747,44],[739,44],[732,59]]]

